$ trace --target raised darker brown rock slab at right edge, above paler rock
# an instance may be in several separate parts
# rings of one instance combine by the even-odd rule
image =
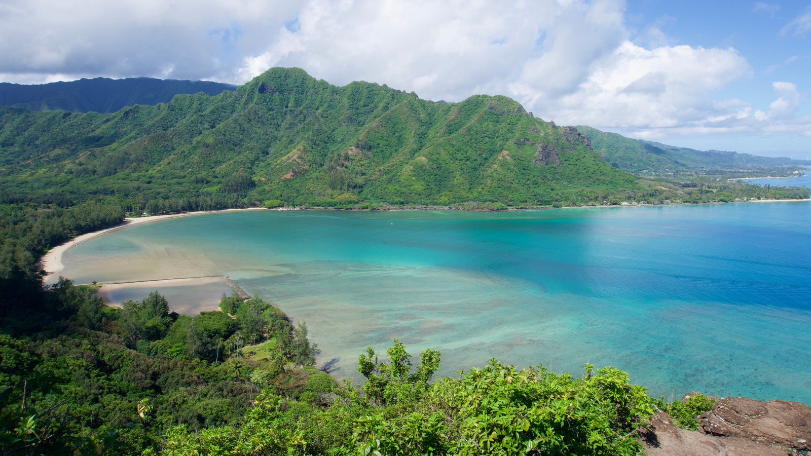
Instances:
[[[811,454],[811,407],[793,401],[723,398],[699,417],[703,432],[774,444]]]

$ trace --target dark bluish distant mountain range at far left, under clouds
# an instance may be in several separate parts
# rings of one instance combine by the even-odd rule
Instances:
[[[211,81],[153,78],[94,78],[32,85],[0,83],[0,105],[33,111],[112,113],[125,106],[166,103],[178,93],[218,95],[234,88],[237,86]]]

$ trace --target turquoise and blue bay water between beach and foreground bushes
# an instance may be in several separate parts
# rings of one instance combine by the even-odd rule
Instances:
[[[488,357],[614,365],[651,394],[811,403],[811,202],[244,211],[131,226],[62,257],[79,282],[226,274],[356,376],[401,338],[443,374]]]

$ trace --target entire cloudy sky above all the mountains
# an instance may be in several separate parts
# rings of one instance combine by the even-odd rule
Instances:
[[[811,155],[811,0],[0,0],[0,82],[301,67],[699,149]]]

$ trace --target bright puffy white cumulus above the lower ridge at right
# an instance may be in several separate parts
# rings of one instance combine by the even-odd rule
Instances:
[[[624,41],[593,62],[577,91],[545,100],[539,114],[559,123],[646,129],[734,117],[740,103],[711,101],[708,92],[749,71],[734,49],[649,50]]]

